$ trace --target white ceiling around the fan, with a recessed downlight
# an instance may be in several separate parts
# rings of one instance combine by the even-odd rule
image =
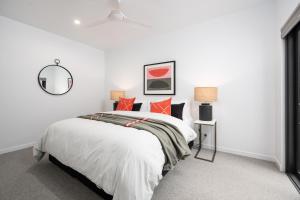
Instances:
[[[108,15],[109,1],[0,0],[0,15],[96,48],[111,49],[269,0],[121,0],[121,8],[128,17],[152,27],[146,29],[120,22],[84,27]],[[75,26],[74,19],[80,19],[82,24]]]

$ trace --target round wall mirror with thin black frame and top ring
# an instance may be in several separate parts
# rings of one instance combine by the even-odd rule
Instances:
[[[41,88],[52,95],[62,95],[69,92],[73,86],[73,77],[60,60],[55,59],[55,64],[44,67],[39,75],[38,82]]]

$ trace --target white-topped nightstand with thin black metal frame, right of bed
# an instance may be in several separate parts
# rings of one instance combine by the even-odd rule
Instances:
[[[198,147],[198,151],[195,155],[195,158],[204,160],[204,161],[214,162],[216,152],[217,152],[217,120],[212,120],[212,121],[196,120],[196,121],[194,121],[194,124],[199,126],[199,147]],[[200,153],[201,148],[202,148],[202,126],[213,126],[214,127],[214,136],[215,136],[214,137],[214,151],[213,151],[213,156],[212,156],[211,160],[201,158],[198,156],[198,154]]]

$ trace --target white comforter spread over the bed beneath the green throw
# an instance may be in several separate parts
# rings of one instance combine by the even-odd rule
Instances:
[[[196,138],[191,127],[171,116],[149,112],[110,113],[148,117],[175,125],[187,142]],[[41,159],[47,152],[63,164],[85,175],[113,200],[150,200],[162,178],[165,156],[153,134],[81,118],[49,126],[34,147]]]

